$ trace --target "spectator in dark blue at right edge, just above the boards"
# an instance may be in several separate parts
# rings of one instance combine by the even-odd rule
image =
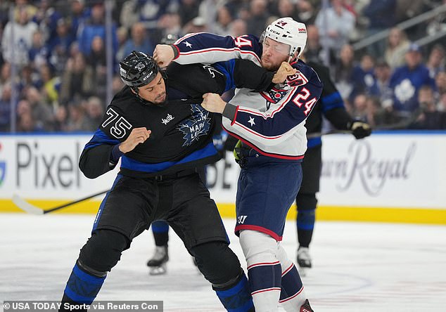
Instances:
[[[431,86],[421,86],[418,93],[418,105],[421,114],[409,129],[439,130],[444,128],[444,113],[437,110]]]

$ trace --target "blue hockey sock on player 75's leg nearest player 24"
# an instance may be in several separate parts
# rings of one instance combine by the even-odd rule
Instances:
[[[241,275],[236,285],[226,289],[218,290],[214,287],[218,299],[229,312],[254,312],[253,297],[248,285],[245,273]]]

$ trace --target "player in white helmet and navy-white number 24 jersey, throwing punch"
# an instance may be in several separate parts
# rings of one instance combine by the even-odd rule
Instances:
[[[224,129],[241,140],[236,148],[241,173],[235,231],[257,312],[277,311],[278,302],[286,311],[312,311],[298,270],[280,244],[302,180],[305,119],[322,89],[314,70],[298,59],[306,41],[305,24],[279,18],[260,40],[252,35],[188,34],[173,46],[157,46],[153,53],[160,65],[248,58],[267,70],[276,70],[282,62],[297,70],[284,84],[265,92],[238,89],[229,103],[215,93],[203,96],[203,108],[222,113]]]

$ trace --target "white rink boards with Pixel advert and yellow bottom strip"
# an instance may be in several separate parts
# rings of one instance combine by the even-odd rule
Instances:
[[[13,194],[42,208],[107,190],[117,169],[90,180],[77,162],[91,134],[1,135],[0,212],[20,211]],[[323,138],[319,220],[446,224],[446,132],[377,132]],[[235,216],[238,165],[231,153],[208,167],[222,216]],[[291,173],[292,174],[292,173]],[[286,177],[284,177],[286,178]],[[96,213],[101,197],[62,213]],[[288,214],[295,216],[293,207]]]

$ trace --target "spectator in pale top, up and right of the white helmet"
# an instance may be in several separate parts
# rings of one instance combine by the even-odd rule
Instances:
[[[355,15],[344,8],[342,0],[331,0],[331,7],[321,9],[315,24],[319,29],[321,46],[329,48],[330,61],[334,63],[340,49],[349,42],[355,29]]]

